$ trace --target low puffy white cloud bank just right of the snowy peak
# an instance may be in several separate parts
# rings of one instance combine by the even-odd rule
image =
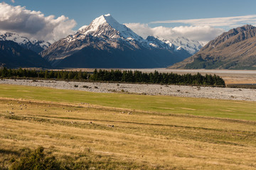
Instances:
[[[148,24],[143,23],[125,23],[125,26],[131,28],[143,38],[146,38],[149,35],[158,36],[167,40],[177,37],[185,37],[191,40],[204,42],[213,40],[225,31],[222,28],[213,28],[213,26],[178,26],[174,28],[158,26],[151,28]]]

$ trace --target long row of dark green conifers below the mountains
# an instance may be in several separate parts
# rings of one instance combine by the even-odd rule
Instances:
[[[95,69],[94,72],[73,72],[73,71],[36,71],[35,69],[0,69],[1,78],[38,78],[38,79],[59,79],[59,80],[80,80],[80,81],[110,81],[129,82],[146,84],[178,84],[178,85],[206,85],[225,86],[225,81],[217,76],[206,74],[175,74],[159,73],[157,71],[144,73],[132,70],[102,70]]]

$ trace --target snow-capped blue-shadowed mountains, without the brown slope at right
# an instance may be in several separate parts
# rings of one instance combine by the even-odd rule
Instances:
[[[52,45],[16,33],[0,35],[0,42],[5,49],[1,50],[2,65],[48,68],[168,67],[202,47],[199,42],[186,38],[166,40],[149,36],[145,40],[110,14],[95,18],[89,26],[82,26],[74,35]]]

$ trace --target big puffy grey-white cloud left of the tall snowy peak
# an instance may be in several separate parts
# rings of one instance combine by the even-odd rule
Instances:
[[[59,40],[69,34],[76,26],[68,17],[44,16],[41,11],[30,11],[26,7],[0,3],[0,31],[18,33],[31,39]]]

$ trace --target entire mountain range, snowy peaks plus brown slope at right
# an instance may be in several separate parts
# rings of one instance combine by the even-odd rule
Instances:
[[[148,36],[110,14],[53,44],[16,33],[0,35],[0,66],[46,68],[256,69],[256,28],[245,25],[202,47],[187,38]]]

